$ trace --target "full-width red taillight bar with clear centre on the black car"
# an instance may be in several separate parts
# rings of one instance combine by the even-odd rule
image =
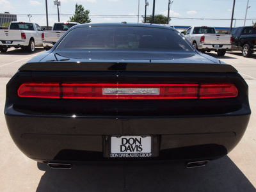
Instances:
[[[24,83],[18,95],[58,99],[217,99],[237,97],[238,90],[232,83]]]

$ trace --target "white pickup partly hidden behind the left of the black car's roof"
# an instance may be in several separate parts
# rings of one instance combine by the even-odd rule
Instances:
[[[44,31],[44,49],[49,50],[58,40],[63,36],[66,31],[72,26],[76,26],[78,22],[55,22],[51,31]]]

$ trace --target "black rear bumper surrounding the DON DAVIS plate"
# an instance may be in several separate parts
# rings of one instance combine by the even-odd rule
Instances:
[[[250,118],[248,105],[203,116],[43,116],[12,106],[4,113],[17,147],[40,162],[215,159],[236,147]],[[152,157],[109,158],[113,135],[152,136]]]

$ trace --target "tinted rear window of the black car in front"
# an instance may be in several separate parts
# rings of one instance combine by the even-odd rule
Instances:
[[[132,26],[77,28],[68,33],[57,49],[193,50],[179,32],[170,28]]]

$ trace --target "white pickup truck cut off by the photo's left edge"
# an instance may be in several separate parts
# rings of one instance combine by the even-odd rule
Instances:
[[[36,46],[43,45],[43,29],[33,22],[11,22],[9,29],[0,30],[0,51],[15,47],[34,52]]]

